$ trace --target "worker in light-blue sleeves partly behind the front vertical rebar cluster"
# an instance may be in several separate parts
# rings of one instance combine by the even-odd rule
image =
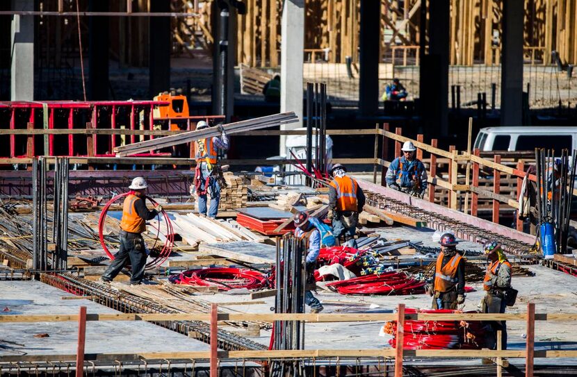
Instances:
[[[330,228],[314,217],[309,217],[307,212],[297,212],[293,217],[295,223],[295,237],[307,240],[307,256],[304,260],[307,271],[306,284],[314,284],[314,270],[316,258],[321,247],[334,246],[334,237]],[[311,313],[323,310],[323,304],[307,289],[304,294],[304,303],[309,305]]]

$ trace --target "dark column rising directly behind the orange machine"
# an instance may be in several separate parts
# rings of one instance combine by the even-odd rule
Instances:
[[[150,0],[150,12],[170,12],[170,1]],[[170,90],[170,17],[150,17],[149,97]]]

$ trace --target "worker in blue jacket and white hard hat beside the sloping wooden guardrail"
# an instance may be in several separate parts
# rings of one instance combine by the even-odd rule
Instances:
[[[412,142],[405,142],[403,156],[395,158],[387,170],[387,186],[423,199],[427,190],[427,171],[423,162],[415,157],[416,148]]]

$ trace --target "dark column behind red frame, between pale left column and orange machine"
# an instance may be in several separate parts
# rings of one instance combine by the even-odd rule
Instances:
[[[108,1],[90,0],[92,12],[107,12]],[[108,99],[108,17],[88,17],[88,92],[90,101]]]

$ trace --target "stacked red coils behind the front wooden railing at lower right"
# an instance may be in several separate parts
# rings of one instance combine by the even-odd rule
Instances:
[[[405,309],[405,314],[421,313],[455,313],[458,310],[416,310]],[[480,321],[405,321],[404,349],[481,349],[485,346]],[[393,335],[389,340],[396,346],[397,322],[387,322],[384,333]]]

